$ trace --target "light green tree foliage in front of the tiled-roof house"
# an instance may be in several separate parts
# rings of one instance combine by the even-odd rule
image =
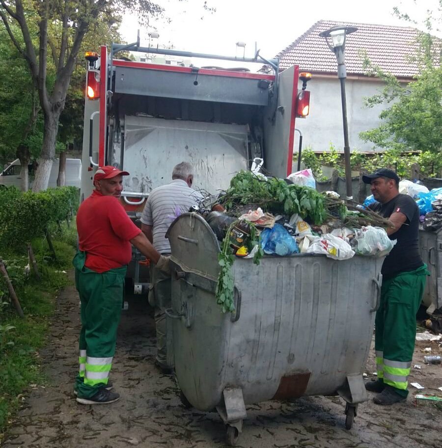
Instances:
[[[401,17],[410,20],[406,15]],[[396,154],[410,151],[441,154],[441,41],[431,35],[429,21],[427,26],[428,32],[418,34],[418,49],[413,58],[419,73],[406,86],[372,64],[366,54],[363,55],[367,74],[377,76],[386,83],[382,92],[365,100],[366,106],[391,104],[380,113],[379,127],[359,134],[362,140],[372,142],[375,147]]]

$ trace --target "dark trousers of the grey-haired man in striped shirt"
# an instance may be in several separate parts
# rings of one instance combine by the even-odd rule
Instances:
[[[154,264],[150,268],[149,303],[155,306],[155,331],[157,335],[157,363],[164,368],[173,368],[172,335],[167,331],[165,309],[171,307],[172,292],[170,274],[164,273]],[[169,351],[169,353],[168,353]]]

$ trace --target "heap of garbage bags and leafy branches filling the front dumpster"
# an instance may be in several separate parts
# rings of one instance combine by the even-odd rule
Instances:
[[[348,260],[389,253],[395,242],[385,231],[387,219],[306,185],[241,171],[201,214],[220,241],[229,240],[233,255],[255,262],[264,254]]]

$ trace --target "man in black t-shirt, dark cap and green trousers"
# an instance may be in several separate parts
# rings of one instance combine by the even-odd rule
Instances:
[[[416,337],[416,313],[422,300],[426,264],[419,253],[419,209],[414,200],[399,193],[399,178],[386,168],[363,176],[371,184],[377,203],[369,208],[388,218],[391,240],[396,239],[382,265],[382,289],[376,313],[375,350],[378,379],[365,384],[376,404],[393,404],[407,398],[408,375]]]

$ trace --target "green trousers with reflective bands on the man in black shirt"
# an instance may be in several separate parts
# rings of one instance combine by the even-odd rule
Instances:
[[[408,395],[416,313],[422,300],[427,265],[402,272],[382,282],[381,302],[376,313],[375,350],[378,379]]]

